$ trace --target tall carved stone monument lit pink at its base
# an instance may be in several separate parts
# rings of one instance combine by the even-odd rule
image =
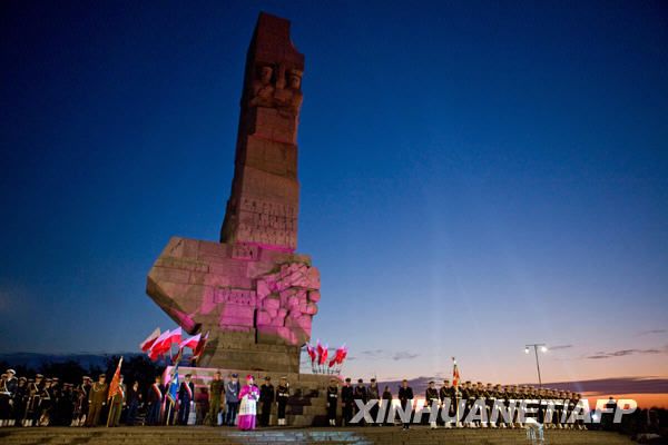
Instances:
[[[289,21],[261,13],[220,240],[174,237],[148,274],[163,310],[190,335],[209,333],[198,366],[298,373],[321,298],[318,270],[295,253],[303,72]]]

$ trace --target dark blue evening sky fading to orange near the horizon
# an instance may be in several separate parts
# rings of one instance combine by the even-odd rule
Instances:
[[[668,375],[661,1],[3,1],[2,352],[174,326],[145,276],[217,239],[259,10],[306,56],[314,339],[383,377],[528,379],[534,340],[547,378]]]

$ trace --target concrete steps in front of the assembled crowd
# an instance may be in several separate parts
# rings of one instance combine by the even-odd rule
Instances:
[[[233,428],[120,427],[120,428],[1,428],[2,445],[278,445],[278,444],[390,444],[390,445],[514,445],[530,444],[524,431],[436,429],[412,426],[358,428],[265,428],[239,432]],[[547,431],[546,444],[622,445],[632,442],[616,433]]]

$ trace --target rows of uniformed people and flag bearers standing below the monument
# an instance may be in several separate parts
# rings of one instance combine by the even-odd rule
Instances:
[[[176,392],[170,390],[169,384],[164,385],[160,375],[148,388],[140,388],[138,382],[126,385],[120,376],[120,389],[109,397],[107,376],[100,374],[96,382],[84,376],[75,385],[61,383],[57,377],[46,378],[37,374],[35,378],[17,377],[13,369],[8,369],[0,379],[0,426],[119,426],[124,425],[212,425],[237,426],[240,429],[253,429],[256,424],[263,427],[271,425],[287,425],[287,406],[291,387],[286,377],[282,377],[275,387],[271,377],[265,377],[257,385],[253,376],[245,378],[244,385],[236,374],[222,376],[214,374],[206,387],[199,387],[196,393],[191,376],[181,376]],[[176,393],[176,394],[174,394]],[[174,397],[176,395],[176,397]],[[580,395],[572,392],[536,388],[532,386],[492,385],[465,382],[456,387],[449,380],[436,388],[430,382],[424,397],[414,394],[407,380],[403,380],[396,394],[389,386],[380,389],[375,378],[366,385],[358,379],[356,385],[351,378],[343,383],[333,377],[326,388],[326,415],[330,426],[363,426],[365,421],[353,423],[360,406],[369,400],[377,399],[370,409],[372,425],[394,425],[401,423],[403,428],[410,428],[411,423],[429,424],[432,428],[444,427],[522,427],[519,418],[507,419],[503,416],[492,416],[497,400],[508,405],[509,400],[551,399],[561,400],[556,405],[549,418],[542,413],[541,423],[547,428],[583,428],[580,424],[564,422],[580,400]],[[422,409],[421,418],[415,421],[404,418],[394,411],[387,409],[393,403],[403,411],[407,405],[415,408],[415,402],[424,399],[426,409]],[[450,399],[450,404],[445,400]],[[488,418],[493,421],[465,422],[466,412],[471,411],[475,400],[484,400]],[[462,413],[456,413],[459,407]],[[432,416],[431,409],[438,409],[439,415]],[[445,422],[442,409],[449,409],[448,415],[460,421]],[[381,412],[381,416],[379,416]],[[539,413],[540,414],[540,413]],[[273,421],[273,415],[275,422]],[[514,415],[513,415],[514,416]],[[430,422],[431,421],[431,422]]]

